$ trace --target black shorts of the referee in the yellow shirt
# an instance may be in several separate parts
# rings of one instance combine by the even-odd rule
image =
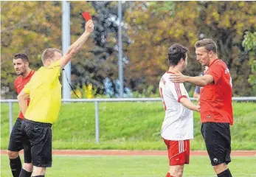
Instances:
[[[24,119],[21,131],[30,141],[32,164],[35,167],[52,167],[52,124]]]

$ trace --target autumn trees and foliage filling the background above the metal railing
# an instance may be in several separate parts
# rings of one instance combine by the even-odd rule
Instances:
[[[80,13],[89,11],[95,24],[89,41],[72,59],[72,85],[91,86],[93,97],[108,90],[113,92],[109,97],[118,97],[117,1],[70,4],[71,43],[84,30]],[[157,96],[159,78],[168,68],[167,49],[174,43],[190,49],[185,74],[197,75],[201,66],[193,45],[201,38],[216,41],[218,57],[232,74],[233,95],[255,95],[255,1],[123,1],[122,7],[125,93],[133,92],[128,97],[149,90]],[[2,98],[15,98],[15,53],[26,53],[37,70],[44,49],[61,49],[61,14],[61,1],[1,1]]]

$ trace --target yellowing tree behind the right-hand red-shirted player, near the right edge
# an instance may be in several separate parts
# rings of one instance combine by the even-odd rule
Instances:
[[[252,95],[252,86],[248,82],[249,55],[243,52],[241,42],[246,30],[256,29],[256,2],[200,3],[205,10],[200,18],[204,25],[199,26],[199,30],[217,41],[218,56],[226,62],[232,75],[234,96]]]

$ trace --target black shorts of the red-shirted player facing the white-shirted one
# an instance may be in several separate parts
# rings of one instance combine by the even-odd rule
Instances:
[[[212,166],[231,162],[231,136],[229,123],[204,122],[201,134]]]

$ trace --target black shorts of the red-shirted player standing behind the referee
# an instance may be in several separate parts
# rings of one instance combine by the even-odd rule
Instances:
[[[21,123],[23,122],[23,119],[17,118],[15,124],[13,125],[12,132],[10,133],[10,141],[8,145],[8,150],[13,152],[18,152],[22,149],[24,149],[24,162],[25,163],[31,163],[31,152],[30,149],[24,147],[24,142],[26,139],[24,139],[24,136],[22,136],[21,133]]]

